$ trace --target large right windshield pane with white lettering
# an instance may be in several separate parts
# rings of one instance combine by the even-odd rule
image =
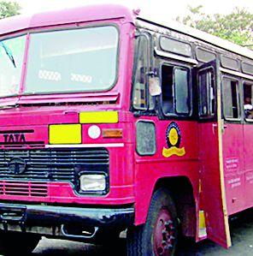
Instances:
[[[118,41],[114,26],[31,33],[24,93],[109,90],[117,76]]]

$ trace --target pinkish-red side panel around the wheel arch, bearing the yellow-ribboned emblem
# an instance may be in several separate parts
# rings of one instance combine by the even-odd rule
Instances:
[[[159,180],[173,177],[186,177],[192,186],[197,202],[199,163],[198,163],[198,134],[197,122],[158,120],[157,118],[141,117],[141,120],[156,123],[156,154],[154,156],[141,157],[135,152],[135,195],[136,195],[136,224],[144,223],[149,210],[150,198],[156,183]],[[172,155],[164,157],[162,151],[168,148],[167,130],[171,122],[176,122],[180,128],[180,148],[185,148],[184,156]]]

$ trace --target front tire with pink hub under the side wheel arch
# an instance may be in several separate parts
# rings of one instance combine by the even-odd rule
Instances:
[[[174,201],[165,188],[153,194],[146,223],[127,230],[127,256],[172,256],[178,240]]]

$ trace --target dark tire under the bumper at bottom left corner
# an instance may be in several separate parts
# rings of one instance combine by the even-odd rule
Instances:
[[[0,233],[0,254],[4,256],[28,255],[38,246],[40,237],[24,233]]]

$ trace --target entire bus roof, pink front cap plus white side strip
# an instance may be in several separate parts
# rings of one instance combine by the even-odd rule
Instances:
[[[118,4],[81,6],[34,15],[17,15],[3,19],[0,21],[0,36],[21,32],[29,28],[56,26],[74,22],[103,21],[117,18],[125,18],[126,22],[132,23],[136,19],[132,10]],[[167,27],[168,29],[190,35],[193,38],[203,40],[204,42],[221,47],[227,51],[232,51],[241,56],[253,59],[253,51],[250,51],[245,47],[235,45],[227,40],[220,39],[192,27],[187,27],[177,21],[170,21],[166,19],[166,17],[156,17],[156,20],[154,21],[150,21],[150,19],[145,17],[138,17],[137,20],[145,21],[160,27]]]

